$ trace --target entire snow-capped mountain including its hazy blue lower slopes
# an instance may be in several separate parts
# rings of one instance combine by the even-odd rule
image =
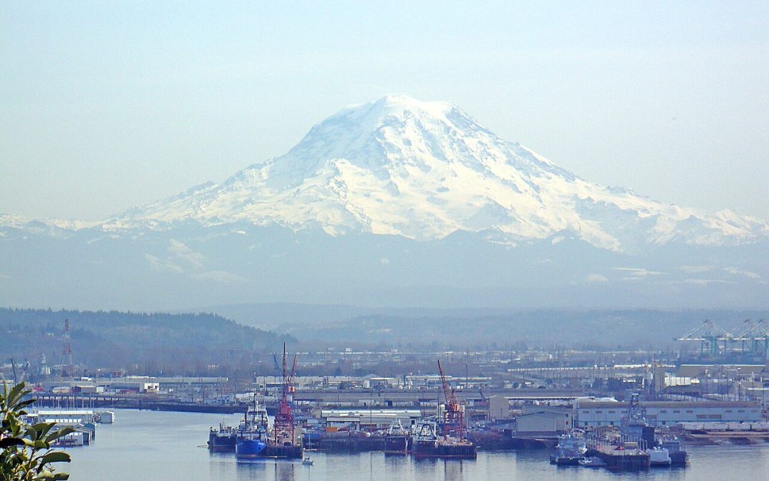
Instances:
[[[767,282],[767,222],[592,184],[401,95],[102,222],[0,214],[9,306],[744,307]]]

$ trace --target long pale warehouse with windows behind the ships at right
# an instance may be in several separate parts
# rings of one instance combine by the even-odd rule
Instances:
[[[761,406],[744,401],[641,403],[644,416],[652,426],[670,426],[675,423],[757,423],[761,421]],[[618,426],[628,411],[628,403],[584,401],[575,407],[575,425]]]

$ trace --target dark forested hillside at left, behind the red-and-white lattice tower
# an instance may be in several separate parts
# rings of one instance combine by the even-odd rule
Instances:
[[[0,308],[0,362],[35,365],[45,354],[49,366],[61,364],[65,319],[79,372],[232,376],[295,342],[213,314]]]

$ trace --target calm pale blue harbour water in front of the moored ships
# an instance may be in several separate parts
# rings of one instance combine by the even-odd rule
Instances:
[[[769,479],[769,446],[707,446],[690,449],[686,469],[611,473],[558,468],[545,451],[478,453],[474,461],[415,461],[384,453],[312,452],[301,462],[236,462],[233,454],[205,449],[208,428],[239,416],[118,410],[115,424],[99,425],[91,446],[68,449],[70,479]]]

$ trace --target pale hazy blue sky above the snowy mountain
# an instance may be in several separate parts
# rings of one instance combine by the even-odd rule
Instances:
[[[0,212],[98,219],[400,92],[584,179],[769,219],[769,2],[318,3],[3,1]]]

